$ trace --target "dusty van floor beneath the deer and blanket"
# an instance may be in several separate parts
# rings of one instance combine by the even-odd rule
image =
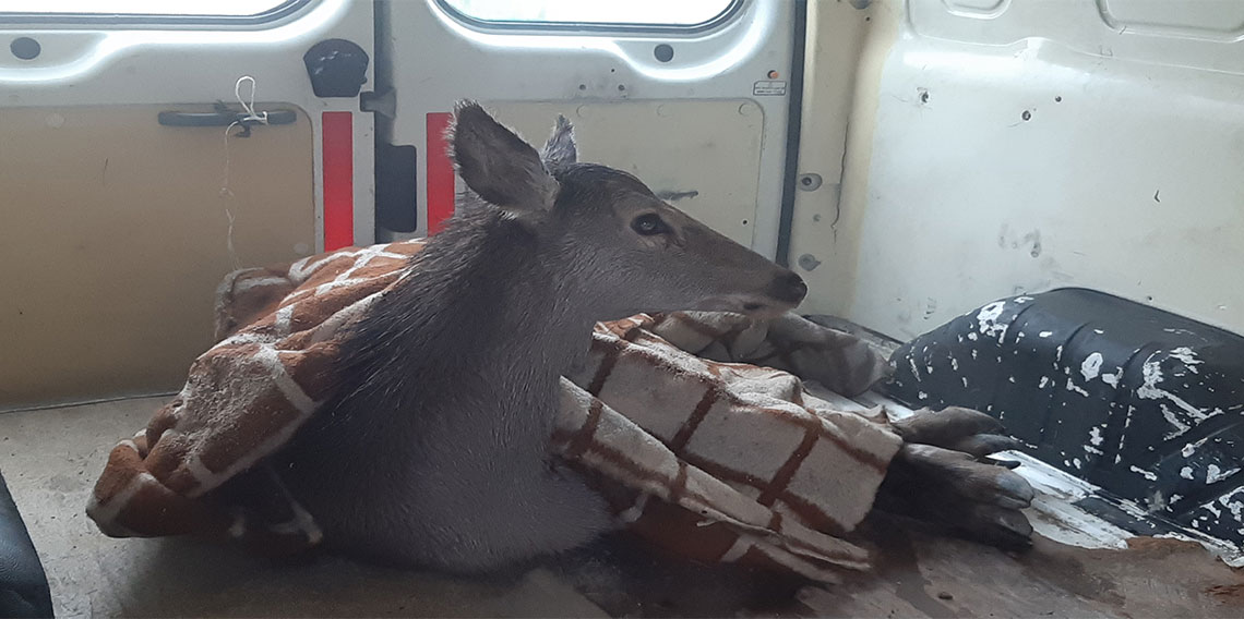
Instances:
[[[511,580],[471,582],[106,538],[82,511],[90,487],[112,444],[160,403],[0,414],[0,470],[57,617],[1244,617],[1244,574],[1195,544],[1137,538],[1128,551],[1088,551],[1037,539],[1008,554],[884,517],[865,531],[876,573],[835,588],[689,566],[624,539]]]

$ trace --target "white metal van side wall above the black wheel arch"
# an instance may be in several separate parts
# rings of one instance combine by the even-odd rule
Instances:
[[[850,129],[804,135],[848,144],[841,200],[831,186],[796,215],[810,310],[909,338],[1084,286],[1244,332],[1244,2],[856,12],[858,46],[821,57],[861,67]],[[815,215],[833,225],[809,234]]]

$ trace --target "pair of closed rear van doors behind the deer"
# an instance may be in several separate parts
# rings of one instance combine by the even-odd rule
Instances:
[[[782,257],[802,2],[27,5],[0,0],[0,409],[175,389],[229,271],[435,232],[459,98],[532,140],[562,113]]]

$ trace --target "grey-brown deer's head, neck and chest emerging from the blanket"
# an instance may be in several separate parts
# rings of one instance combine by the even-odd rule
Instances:
[[[547,451],[596,321],[780,313],[807,288],[634,177],[577,163],[565,118],[542,154],[470,102],[450,135],[471,195],[353,327],[341,389],[276,469],[331,549],[483,572],[612,527]]]

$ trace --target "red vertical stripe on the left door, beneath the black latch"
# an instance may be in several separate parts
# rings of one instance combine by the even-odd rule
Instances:
[[[355,117],[325,112],[323,123],[323,250],[355,244]]]

